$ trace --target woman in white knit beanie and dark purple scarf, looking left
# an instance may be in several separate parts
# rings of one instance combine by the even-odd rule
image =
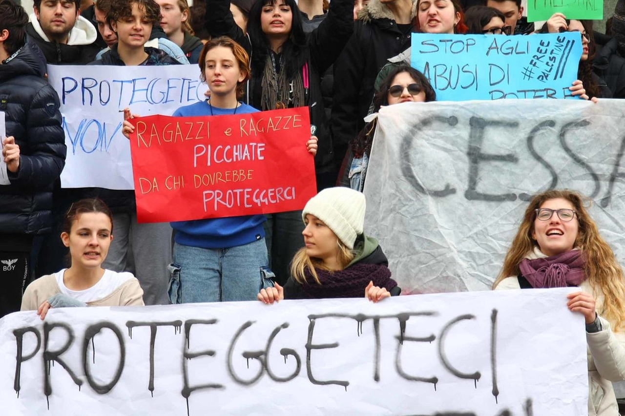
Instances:
[[[388,260],[377,240],[364,235],[365,199],[346,187],[327,188],[302,211],[305,247],[291,262],[284,287],[262,289],[266,304],[282,299],[362,297],[377,302],[401,289],[391,279]]]

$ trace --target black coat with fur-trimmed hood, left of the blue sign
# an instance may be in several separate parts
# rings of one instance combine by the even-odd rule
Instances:
[[[354,34],[334,63],[331,131],[341,161],[349,141],[364,127],[362,119],[369,111],[378,72],[388,63],[387,59],[410,47],[411,32],[399,30],[392,17],[379,0],[369,1],[354,23]]]

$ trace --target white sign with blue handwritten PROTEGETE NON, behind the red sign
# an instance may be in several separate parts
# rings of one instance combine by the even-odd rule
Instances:
[[[57,66],[48,81],[59,94],[66,164],[64,188],[134,189],[130,144],[121,134],[124,114],[171,116],[205,99],[197,65]]]

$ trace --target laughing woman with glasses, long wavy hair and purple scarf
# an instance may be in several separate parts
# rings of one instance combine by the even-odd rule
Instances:
[[[618,416],[611,382],[625,379],[625,277],[584,197],[547,191],[529,202],[493,288],[567,286],[579,291],[562,302],[586,322],[588,414]]]

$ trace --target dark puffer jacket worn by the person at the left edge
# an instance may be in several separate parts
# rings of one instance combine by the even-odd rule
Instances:
[[[65,165],[59,96],[43,79],[46,59],[31,43],[0,65],[0,111],[19,146],[19,169],[0,186],[0,233],[49,232],[52,189]],[[2,237],[0,236],[0,240]]]

